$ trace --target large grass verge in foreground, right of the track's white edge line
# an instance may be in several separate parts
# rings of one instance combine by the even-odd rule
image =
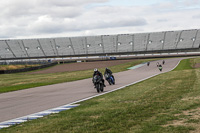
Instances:
[[[190,63],[190,61],[186,61]],[[189,133],[199,121],[200,69],[171,71],[2,133]],[[183,69],[185,68],[185,69]],[[184,112],[191,112],[189,115]],[[177,124],[182,123],[182,124]],[[196,125],[196,126],[195,126]]]

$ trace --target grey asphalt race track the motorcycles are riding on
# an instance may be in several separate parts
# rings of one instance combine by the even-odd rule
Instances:
[[[136,69],[114,73],[116,84],[110,86],[105,81],[106,87],[104,92],[126,86],[153,75],[171,71],[181,59],[166,59],[162,72],[157,68],[157,62],[162,63],[162,60],[159,60],[151,62],[150,66],[145,64]],[[91,78],[3,93],[0,94],[0,122],[56,108],[97,94]]]

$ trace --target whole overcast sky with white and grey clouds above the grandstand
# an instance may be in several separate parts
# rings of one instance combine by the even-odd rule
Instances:
[[[0,39],[200,29],[200,0],[1,0]]]

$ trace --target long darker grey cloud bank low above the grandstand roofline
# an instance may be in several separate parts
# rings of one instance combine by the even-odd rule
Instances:
[[[82,31],[82,30],[93,30],[93,29],[106,29],[106,28],[118,28],[118,27],[130,27],[130,26],[143,26],[147,22],[145,19],[139,18],[122,18],[113,19],[107,21],[78,21],[69,20],[68,22],[61,21],[60,23],[53,22],[52,19],[43,22],[34,23],[30,26],[31,30],[38,33],[64,33],[66,31]]]

